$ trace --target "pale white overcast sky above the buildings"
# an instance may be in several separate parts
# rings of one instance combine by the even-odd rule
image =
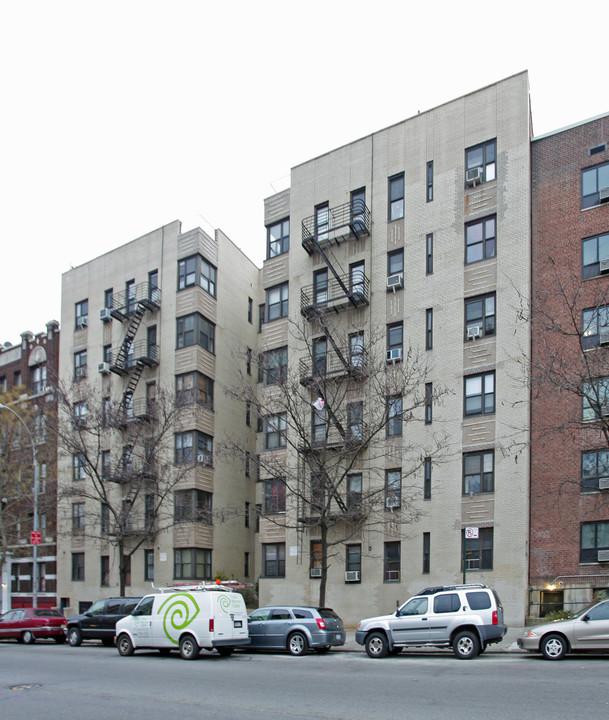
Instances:
[[[521,70],[536,135],[608,112],[607,7],[0,0],[0,342],[175,219],[261,265],[292,166]]]

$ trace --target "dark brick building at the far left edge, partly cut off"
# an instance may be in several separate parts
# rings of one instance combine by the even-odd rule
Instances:
[[[56,479],[57,448],[50,432],[56,410],[53,385],[59,363],[59,323],[52,320],[46,332],[21,334],[21,342],[0,347],[0,409],[3,428],[2,530],[7,545],[2,567],[1,610],[32,607],[34,602],[34,553],[31,531],[40,533],[37,548],[36,604],[57,604],[56,578]],[[30,435],[24,432],[25,423]],[[33,443],[33,447],[32,447]],[[34,453],[38,465],[34,526]]]

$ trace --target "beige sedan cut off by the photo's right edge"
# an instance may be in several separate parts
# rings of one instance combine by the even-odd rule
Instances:
[[[568,620],[527,628],[518,646],[540,652],[546,660],[562,660],[568,652],[609,650],[609,600],[594,602]]]

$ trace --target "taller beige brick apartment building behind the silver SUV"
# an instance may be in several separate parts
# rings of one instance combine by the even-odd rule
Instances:
[[[266,200],[261,604],[316,604],[325,573],[353,624],[466,578],[523,621],[529,118],[522,73],[298,165]]]

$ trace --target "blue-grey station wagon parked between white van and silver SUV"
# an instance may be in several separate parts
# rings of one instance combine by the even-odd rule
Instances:
[[[278,605],[254,610],[248,618],[250,648],[287,650],[304,655],[309,648],[327,652],[345,644],[343,621],[331,608]]]

